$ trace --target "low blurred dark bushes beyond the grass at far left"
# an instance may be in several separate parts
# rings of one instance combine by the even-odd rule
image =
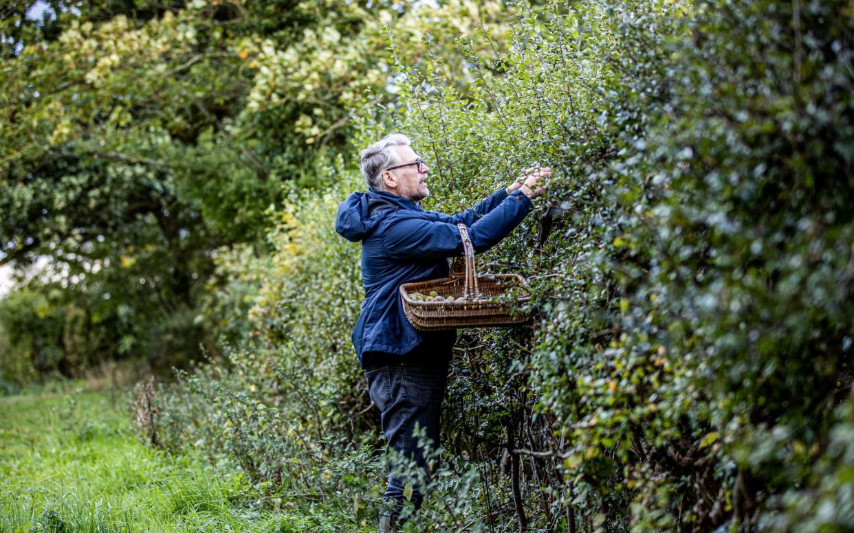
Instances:
[[[103,362],[138,360],[140,352],[148,355],[146,366],[185,365],[204,339],[196,313],[186,306],[140,323],[131,302],[111,309],[112,303],[97,297],[37,279],[0,299],[8,346],[0,351],[0,386],[11,390],[58,376],[81,377]]]

